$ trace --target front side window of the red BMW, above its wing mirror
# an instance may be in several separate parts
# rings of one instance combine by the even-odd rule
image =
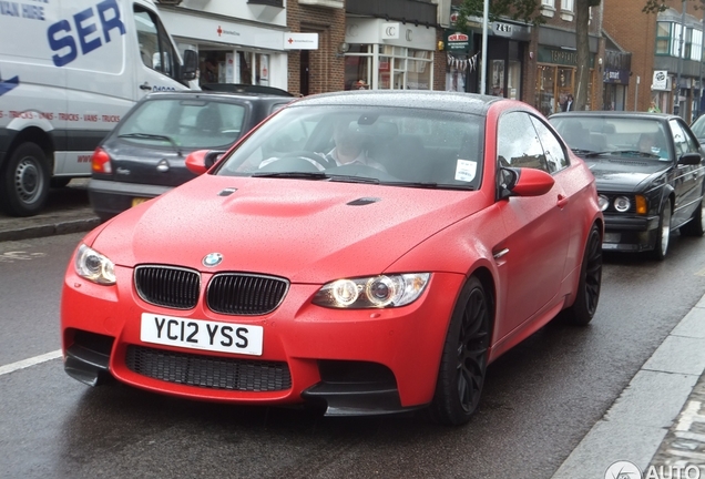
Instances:
[[[500,116],[497,155],[500,166],[550,171],[539,135],[531,118],[524,112],[511,112]]]

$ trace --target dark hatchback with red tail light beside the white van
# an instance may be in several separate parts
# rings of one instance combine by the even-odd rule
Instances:
[[[224,153],[293,98],[255,93],[160,92],[136,103],[93,153],[88,193],[106,221],[195,177],[195,150]]]

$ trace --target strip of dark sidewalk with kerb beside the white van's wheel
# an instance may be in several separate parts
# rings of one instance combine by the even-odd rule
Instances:
[[[100,224],[88,200],[89,180],[72,180],[51,190],[47,207],[37,216],[12,217],[0,213],[0,242],[88,232]]]

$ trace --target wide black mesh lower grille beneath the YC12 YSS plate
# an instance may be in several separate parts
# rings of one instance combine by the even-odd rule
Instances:
[[[278,391],[292,388],[286,363],[174,353],[129,346],[127,368],[142,376],[210,389]]]

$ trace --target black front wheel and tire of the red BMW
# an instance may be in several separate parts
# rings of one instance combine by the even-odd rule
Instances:
[[[468,422],[480,401],[490,345],[491,302],[471,277],[453,309],[443,344],[431,417],[443,425]]]

